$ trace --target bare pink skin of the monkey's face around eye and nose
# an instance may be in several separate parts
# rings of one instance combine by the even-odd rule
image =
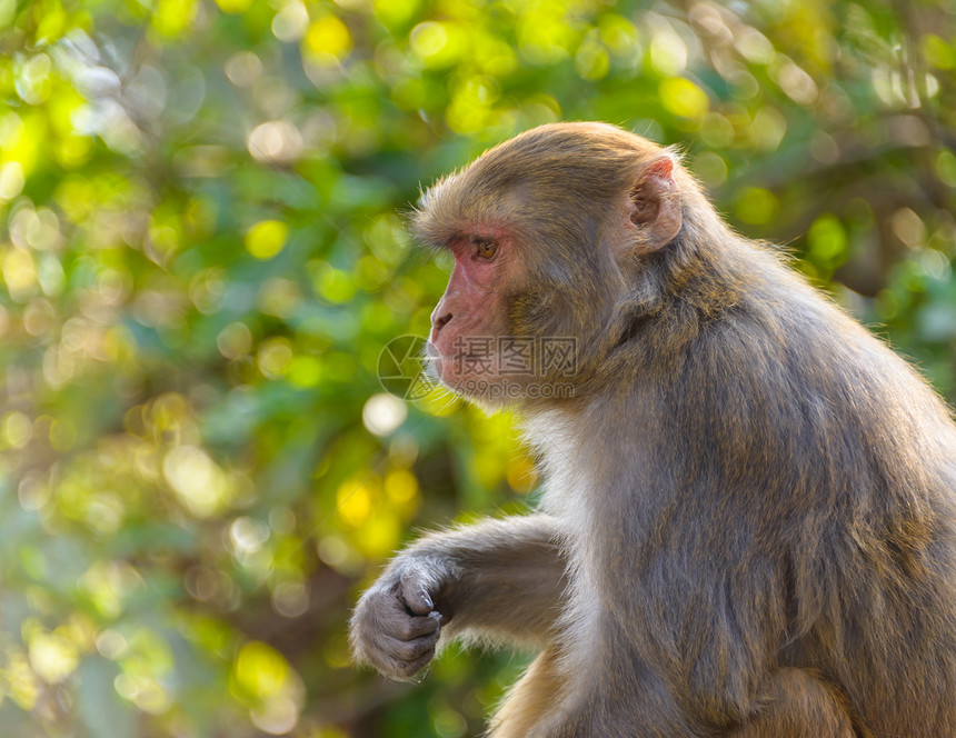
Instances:
[[[498,337],[508,335],[502,276],[506,265],[515,268],[508,247],[502,232],[485,229],[448,245],[455,267],[431,313],[427,350],[437,377],[456,391],[474,395],[469,380],[500,380],[495,350]]]

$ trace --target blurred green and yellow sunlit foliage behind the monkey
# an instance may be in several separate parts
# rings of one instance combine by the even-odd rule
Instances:
[[[0,735],[480,731],[521,658],[391,684],[345,624],[534,472],[377,361],[419,182],[559,119],[680,144],[956,397],[949,0],[0,0]]]

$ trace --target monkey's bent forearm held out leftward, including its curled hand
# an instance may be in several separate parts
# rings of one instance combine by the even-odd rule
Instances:
[[[436,532],[399,554],[362,595],[352,651],[392,677],[432,656],[439,630],[544,646],[566,585],[557,523],[545,515]]]

